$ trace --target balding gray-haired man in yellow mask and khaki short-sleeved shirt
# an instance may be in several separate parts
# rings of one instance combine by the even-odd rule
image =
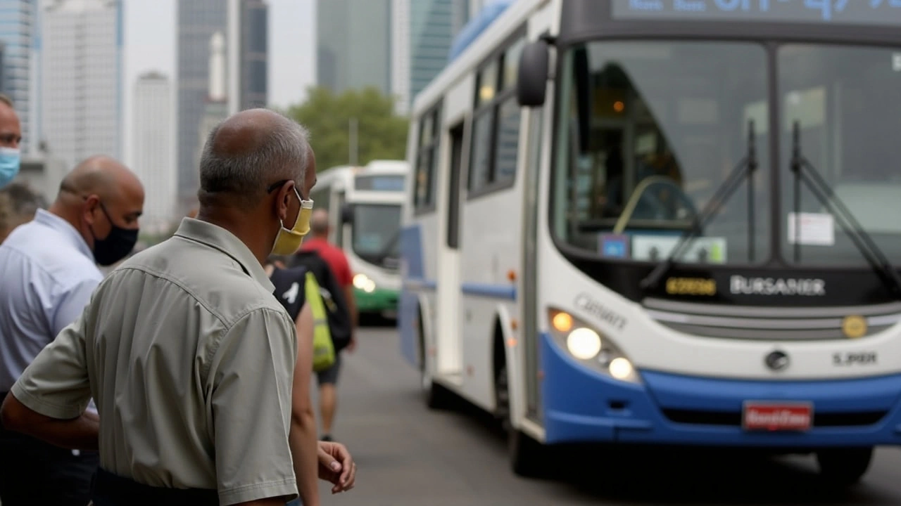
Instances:
[[[332,492],[352,487],[355,465],[293,423],[312,348],[298,350],[262,267],[309,229],[306,131],[265,109],[237,113],[206,140],[200,180],[196,219],[105,278],[0,416],[51,444],[98,449],[96,506],[281,505],[298,490],[314,506],[317,462]],[[99,424],[84,415],[92,396]]]

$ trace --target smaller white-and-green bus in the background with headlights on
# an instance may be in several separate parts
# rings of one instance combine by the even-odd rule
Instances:
[[[405,160],[374,160],[365,167],[332,167],[317,175],[314,206],[329,212],[329,240],[344,251],[353,273],[360,316],[395,319]]]

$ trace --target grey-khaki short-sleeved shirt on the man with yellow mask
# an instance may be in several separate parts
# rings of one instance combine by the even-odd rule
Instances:
[[[12,393],[76,418],[93,396],[100,465],[222,504],[296,497],[288,430],[294,322],[231,232],[186,218],[97,288]]]

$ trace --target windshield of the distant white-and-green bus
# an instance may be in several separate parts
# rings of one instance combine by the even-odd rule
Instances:
[[[357,203],[353,206],[353,252],[367,262],[383,265],[399,256],[400,205]]]

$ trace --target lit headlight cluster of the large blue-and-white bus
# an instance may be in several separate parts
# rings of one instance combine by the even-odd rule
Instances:
[[[559,310],[550,310],[549,321],[551,335],[570,356],[616,380],[642,382],[632,361],[591,325]]]

